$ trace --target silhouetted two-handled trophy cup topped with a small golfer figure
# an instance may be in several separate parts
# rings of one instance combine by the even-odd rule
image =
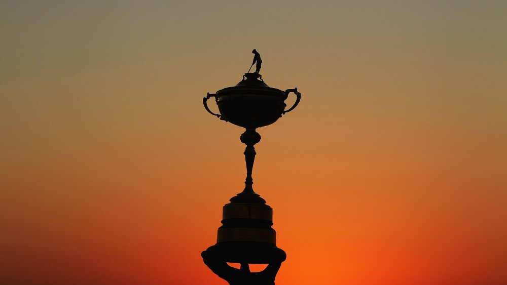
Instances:
[[[255,53],[254,63],[260,60],[259,54],[256,51]],[[297,88],[282,91],[269,87],[258,73],[259,69],[258,62],[256,72],[245,73],[236,86],[224,88],[215,94],[208,93],[203,98],[204,107],[210,114],[246,129],[240,137],[241,142],[246,144],[245,188],[223,207],[222,226],[218,229],[216,244],[202,254],[203,258],[209,258],[211,255],[218,256],[224,261],[223,264],[225,262],[280,264],[286,258],[285,252],[276,247],[276,232],[271,227],[273,209],[266,205],[266,200],[252,188],[252,168],[256,155],[253,145],[261,140],[256,129],[271,125],[283,114],[294,110],[301,100],[301,94]],[[291,108],[285,110],[284,101],[291,92],[297,96],[296,102]],[[211,97],[214,97],[220,114],[215,114],[208,108],[207,100]],[[206,261],[205,258],[204,262],[213,272],[227,279],[221,276],[224,273],[221,273],[219,269],[210,266],[209,260]]]

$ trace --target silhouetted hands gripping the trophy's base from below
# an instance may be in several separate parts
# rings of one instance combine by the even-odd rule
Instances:
[[[230,285],[275,285],[276,273],[281,266],[281,262],[274,262],[261,272],[250,272],[248,263],[242,262],[241,268],[236,269],[229,266],[216,251],[204,251],[201,256],[204,264]]]

